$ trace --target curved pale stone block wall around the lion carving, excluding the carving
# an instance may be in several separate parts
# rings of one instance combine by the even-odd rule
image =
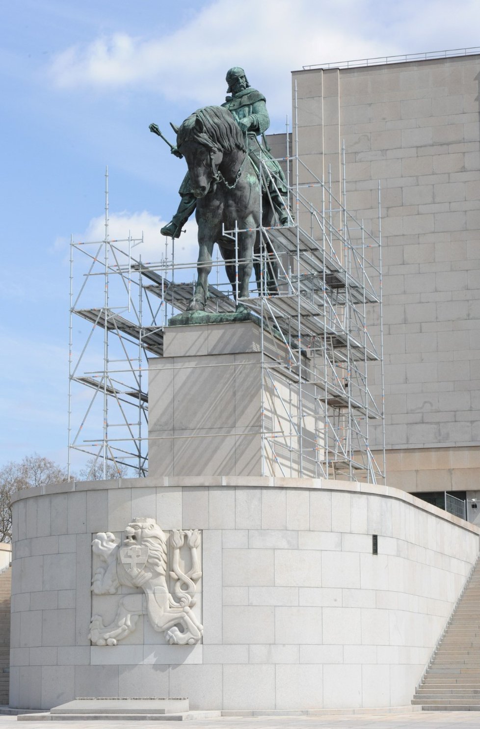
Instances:
[[[95,695],[408,704],[479,551],[476,527],[402,491],[323,480],[58,484],[17,494],[13,516],[10,705],[31,709]],[[170,645],[141,614],[117,645],[90,643],[93,601],[111,620],[119,596],[142,594],[93,596],[92,540],[135,517],[200,530],[200,642]]]

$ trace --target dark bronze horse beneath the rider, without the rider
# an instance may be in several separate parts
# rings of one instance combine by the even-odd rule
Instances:
[[[197,198],[199,256],[197,282],[188,311],[201,311],[208,297],[208,274],[212,269],[213,245],[217,243],[225,262],[234,296],[248,297],[253,252],[260,252],[259,225],[269,227],[275,215],[266,202],[261,213],[260,171],[248,156],[248,136],[235,118],[221,106],[205,106],[191,114],[178,128],[177,148],[189,168],[192,192]],[[238,229],[237,265],[235,241],[222,235]],[[267,281],[276,292],[277,265],[267,248]],[[237,280],[238,271],[238,280]],[[256,263],[257,286],[260,264]]]

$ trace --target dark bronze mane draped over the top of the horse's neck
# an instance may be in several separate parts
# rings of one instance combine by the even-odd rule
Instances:
[[[245,141],[235,117],[223,106],[204,106],[197,109],[181,124],[177,134],[178,149],[186,141],[196,141],[209,149],[222,152],[245,152]]]

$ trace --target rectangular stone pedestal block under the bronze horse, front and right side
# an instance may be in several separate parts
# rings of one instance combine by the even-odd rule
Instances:
[[[275,369],[288,362],[280,338],[264,332],[263,351],[262,366],[253,321],[165,330],[164,356],[149,362],[150,474],[299,475],[296,375]],[[319,416],[306,389],[302,403],[312,456]],[[317,475],[313,461],[304,460],[304,475]]]

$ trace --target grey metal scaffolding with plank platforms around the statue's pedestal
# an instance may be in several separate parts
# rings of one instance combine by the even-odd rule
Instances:
[[[243,305],[261,330],[262,475],[385,483],[380,195],[374,235],[347,211],[345,149],[341,192],[334,194],[331,168],[320,179],[300,157],[297,129],[295,122],[291,155],[287,122],[280,157],[294,212],[286,226],[258,229],[259,283],[252,281],[249,297],[240,300],[217,256],[205,311],[230,313]],[[264,160],[261,166],[272,175]],[[142,238],[111,240],[108,180],[107,171],[103,240],[71,241],[68,451],[100,460],[103,477],[109,464],[143,477],[148,360],[163,354],[168,312],[186,311],[194,282],[184,279],[197,264],[176,260],[175,241],[165,243],[160,261],[143,262],[134,255]],[[235,243],[236,267],[241,232],[224,230]],[[267,286],[272,264],[275,294]],[[78,346],[79,317],[90,330]]]

